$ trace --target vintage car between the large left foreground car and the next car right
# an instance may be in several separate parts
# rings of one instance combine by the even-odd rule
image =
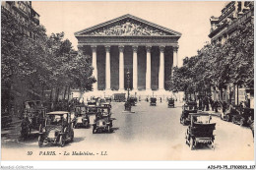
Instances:
[[[77,105],[75,107],[75,118],[74,118],[74,128],[79,127],[90,127],[90,119],[87,114],[87,108],[84,104]]]

